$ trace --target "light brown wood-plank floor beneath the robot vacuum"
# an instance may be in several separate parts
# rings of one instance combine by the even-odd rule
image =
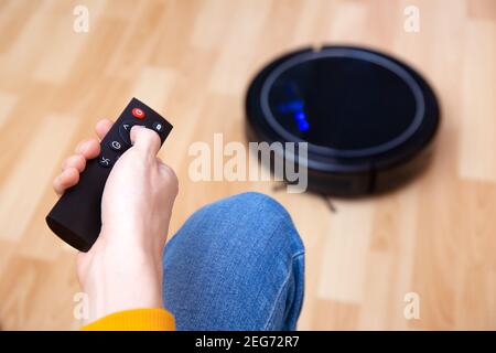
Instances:
[[[89,9],[89,32],[73,9]],[[420,9],[420,32],[403,9]],[[193,141],[245,141],[257,69],[304,45],[388,51],[436,89],[432,167],[388,195],[326,203],[273,184],[190,181]],[[267,192],[306,245],[302,330],[496,329],[496,2],[492,0],[0,0],[0,325],[76,329],[75,253],[46,228],[52,178],[100,117],[130,97],[173,122],[161,157],[176,170],[172,231],[206,202]],[[420,318],[407,320],[405,296]]]

